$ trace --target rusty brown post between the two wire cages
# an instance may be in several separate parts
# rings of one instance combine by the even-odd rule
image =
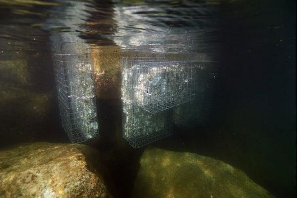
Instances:
[[[90,51],[96,96],[100,99],[121,98],[120,48],[92,46]]]

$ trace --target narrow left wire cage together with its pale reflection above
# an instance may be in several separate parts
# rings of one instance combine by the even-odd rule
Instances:
[[[50,30],[51,52],[63,128],[73,143],[98,135],[89,45],[80,37],[89,15],[83,1],[55,7],[43,29]],[[62,30],[61,27],[67,29]]]

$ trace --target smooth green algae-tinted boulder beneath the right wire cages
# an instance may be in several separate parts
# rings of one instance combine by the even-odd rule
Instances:
[[[147,148],[133,198],[274,198],[229,164],[194,153]]]

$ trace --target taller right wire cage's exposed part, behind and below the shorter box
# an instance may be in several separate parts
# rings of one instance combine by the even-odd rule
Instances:
[[[150,58],[139,58],[149,61]],[[122,59],[122,101],[123,101],[123,136],[134,148],[139,148],[149,143],[171,135],[171,111],[150,113],[138,105],[136,99],[135,83],[132,62]],[[158,60],[162,60],[159,58]],[[123,67],[123,65],[127,67]]]

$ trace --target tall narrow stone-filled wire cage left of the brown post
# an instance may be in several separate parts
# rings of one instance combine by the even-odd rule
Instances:
[[[88,53],[53,57],[62,126],[73,143],[98,135],[92,68]]]

